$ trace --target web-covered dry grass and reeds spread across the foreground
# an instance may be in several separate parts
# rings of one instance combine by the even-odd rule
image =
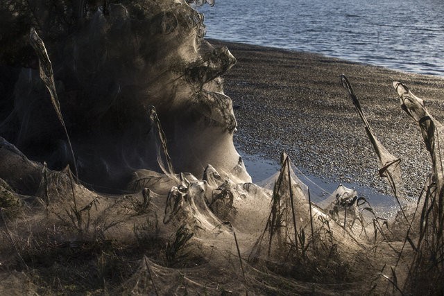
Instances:
[[[343,82],[354,97],[345,77]],[[415,207],[400,209],[393,223],[375,216],[368,202],[356,197],[337,196],[336,218],[332,218],[311,202],[309,192],[305,199],[303,184],[297,182],[289,157],[283,154],[264,231],[246,254],[242,249],[248,244],[239,241],[237,229],[228,221],[222,223],[219,228],[227,231],[225,240],[232,236],[236,251],[228,255],[231,259],[223,259],[214,251],[222,258],[214,263],[212,252],[209,256],[204,250],[207,246],[194,239],[203,227],[193,216],[196,210],[186,207],[194,200],[193,185],[184,175],[176,177],[178,187],[162,202],[162,197],[150,189],[133,195],[99,195],[78,184],[69,168],[51,172],[44,166],[40,191],[34,198],[14,193],[1,181],[2,275],[6,279],[13,270],[22,272],[28,282],[26,289],[41,294],[128,293],[131,289],[141,294],[168,294],[171,286],[157,277],[171,279],[174,272],[178,285],[174,291],[182,294],[205,290],[209,294],[439,294],[444,274],[441,125],[405,85],[398,82],[395,89],[403,109],[420,126],[433,172]],[[399,162],[384,162],[387,155],[366,128],[379,152],[380,173],[389,179],[396,194],[400,191],[392,166]],[[219,192],[228,199],[214,209],[214,202],[207,201],[208,209],[216,215],[220,212],[221,219],[235,217],[232,188],[222,182],[213,191]],[[167,204],[165,212],[176,221],[167,230],[157,217],[159,201]],[[367,207],[361,207],[363,204]],[[366,224],[362,211],[373,214],[370,223]],[[355,224],[358,218],[360,223]],[[227,265],[221,261],[241,270],[239,277],[229,279],[223,271]],[[206,286],[184,271],[196,266],[200,268],[196,272],[199,278],[205,270],[212,274],[210,279],[219,279],[218,286]],[[142,279],[147,281],[145,286],[137,286],[135,277],[137,285]],[[200,285],[197,288],[196,281]],[[241,288],[223,286],[233,282]]]

